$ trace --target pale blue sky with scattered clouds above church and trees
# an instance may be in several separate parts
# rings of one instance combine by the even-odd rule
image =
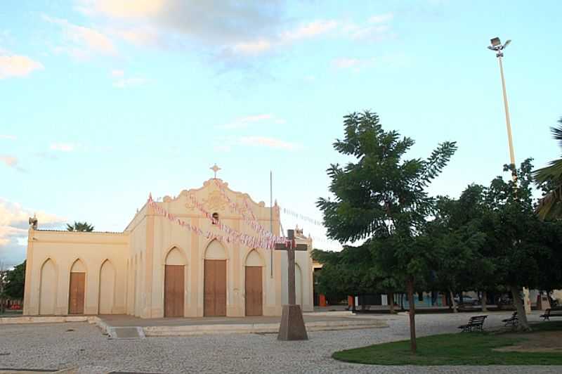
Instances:
[[[559,1],[4,0],[0,6],[0,261],[25,257],[27,217],[122,231],[152,195],[218,173],[254,200],[320,219],[332,142],[377,112],[459,151],[431,187],[457,196],[509,161],[491,37],[517,162],[558,157]],[[266,5],[263,5],[266,4]],[[313,233],[322,228],[291,216]]]

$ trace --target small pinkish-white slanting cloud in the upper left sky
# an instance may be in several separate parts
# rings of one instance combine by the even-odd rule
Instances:
[[[63,28],[67,44],[55,48],[57,52],[68,53],[79,60],[94,55],[115,56],[117,48],[103,32],[91,27],[74,25],[67,20],[43,16],[44,20]]]

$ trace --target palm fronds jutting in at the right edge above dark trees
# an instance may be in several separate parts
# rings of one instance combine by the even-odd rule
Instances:
[[[558,127],[551,128],[552,135],[562,148],[562,118]],[[562,217],[562,158],[549,162],[549,166],[532,173],[535,182],[541,185],[544,196],[539,202],[537,213],[542,219]]]

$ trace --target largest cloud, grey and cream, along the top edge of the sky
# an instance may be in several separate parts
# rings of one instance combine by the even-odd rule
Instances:
[[[331,34],[381,40],[392,13],[357,25],[344,20],[295,23],[280,0],[75,0],[82,13],[105,25],[107,34],[136,46],[189,48],[223,59],[261,56]]]

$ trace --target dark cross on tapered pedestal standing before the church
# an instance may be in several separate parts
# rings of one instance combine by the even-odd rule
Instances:
[[[283,305],[281,315],[281,325],[277,340],[308,340],[306,327],[304,325],[303,311],[301,306],[296,304],[295,276],[294,276],[294,251],[308,250],[306,244],[296,244],[294,240],[294,230],[287,230],[287,240],[285,243],[275,244],[275,250],[287,251],[287,263],[289,268],[289,304]]]

